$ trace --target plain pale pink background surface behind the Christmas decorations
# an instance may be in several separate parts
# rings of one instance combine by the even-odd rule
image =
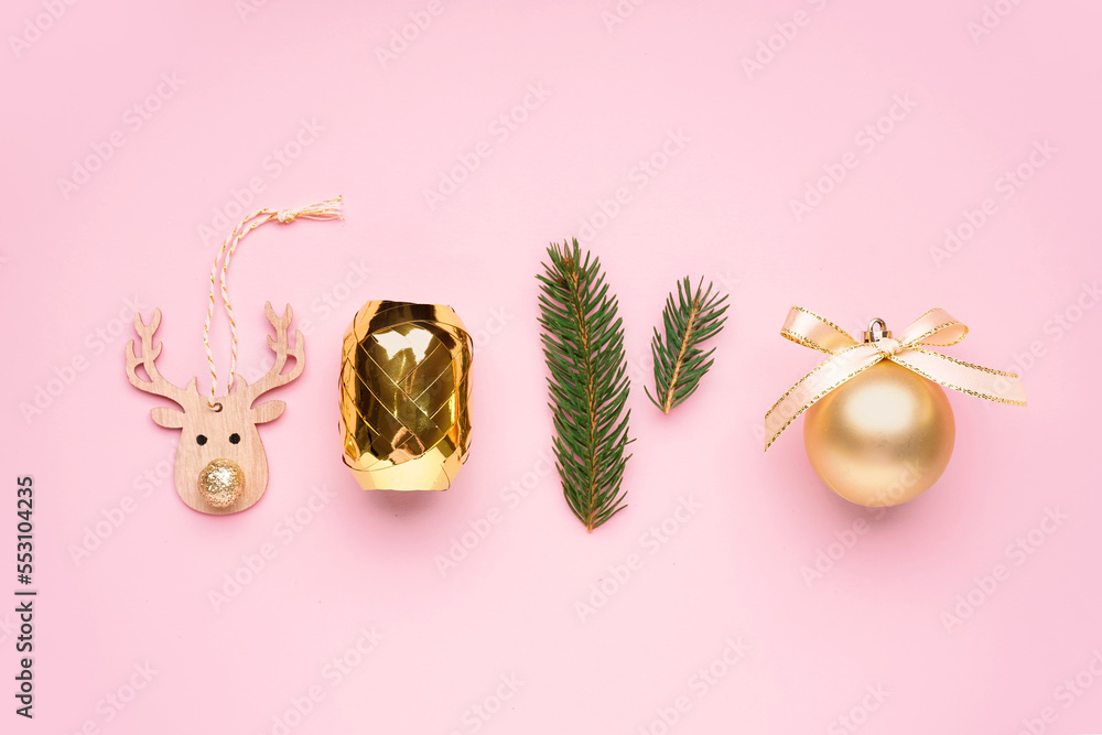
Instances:
[[[1102,357],[1098,3],[257,4],[7,3],[3,477],[11,506],[35,479],[40,597],[36,717],[9,699],[4,732],[1102,731],[1081,388]],[[61,184],[82,161],[97,170]],[[206,388],[216,215],[250,180],[259,206],[343,194],[347,219],[268,226],[234,261],[242,365],[268,356],[271,300],[307,366],[262,430],[267,495],[215,518],[176,497],[174,432],[127,383],[127,300],[163,311],[164,375]],[[809,186],[830,191],[798,218]],[[630,506],[592,536],[543,460],[533,277],[570,236],[619,294],[635,378]],[[649,334],[685,274],[728,291],[731,318],[663,417]],[[341,336],[370,299],[451,304],[478,343],[474,450],[446,494],[366,495],[341,464]],[[942,306],[972,327],[951,354],[1019,369],[1029,407],[953,393],[940,483],[888,514],[849,505],[799,424],[761,452],[764,411],[818,359],[777,334],[792,304],[851,331]],[[220,318],[213,341],[225,375]]]

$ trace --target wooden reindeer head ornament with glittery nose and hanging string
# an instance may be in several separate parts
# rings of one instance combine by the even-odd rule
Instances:
[[[165,380],[158,370],[156,358],[162,345],[153,344],[153,335],[161,325],[161,310],[154,310],[153,317],[148,323],[142,321],[140,314],[134,314],[134,331],[141,337],[141,355],[134,350],[134,341],[131,339],[127,344],[127,378],[134,388],[166,398],[180,407],[175,409],[160,406],[150,411],[150,415],[159,426],[181,430],[174,476],[176,494],[190,508],[210,515],[228,515],[250,508],[260,500],[268,488],[268,457],[258,426],[282,415],[287,403],[281,400],[257,401],[268,391],[298,378],[305,367],[302,333],[295,331],[293,344],[288,339],[291,306],[288,305],[283,316],[279,317],[269,302],[264,304],[264,313],[276,328],[276,337],[268,337],[268,345],[276,353],[274,361],[268,374],[251,385],[236,375],[237,326],[226,289],[226,273],[234,250],[248,233],[267,221],[287,224],[299,217],[339,218],[339,206],[341,197],[337,197],[293,213],[261,209],[247,217],[226,238],[210,269],[210,300],[204,326],[204,343],[210,365],[209,398],[199,394],[195,378],[186,387],[180,388]],[[214,313],[214,282],[219,262],[222,298],[229,316],[233,353],[227,392],[216,398],[217,375],[208,334]],[[284,372],[289,357],[293,365]],[[139,368],[144,377],[138,372]]]

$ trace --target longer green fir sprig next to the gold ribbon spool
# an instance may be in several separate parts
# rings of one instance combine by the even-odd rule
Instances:
[[[624,450],[633,440],[624,328],[596,257],[575,239],[552,244],[548,258],[536,278],[557,467],[566,504],[593,531],[625,508]]]

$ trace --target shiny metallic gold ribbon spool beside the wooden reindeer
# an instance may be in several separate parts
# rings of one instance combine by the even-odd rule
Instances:
[[[365,490],[446,490],[471,446],[471,335],[450,306],[364,304],[341,359],[344,462]]]

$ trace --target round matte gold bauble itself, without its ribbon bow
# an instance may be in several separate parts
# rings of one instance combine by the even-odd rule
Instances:
[[[955,437],[941,386],[892,360],[829,392],[803,422],[815,474],[846,500],[873,508],[925,493],[949,464]]]

